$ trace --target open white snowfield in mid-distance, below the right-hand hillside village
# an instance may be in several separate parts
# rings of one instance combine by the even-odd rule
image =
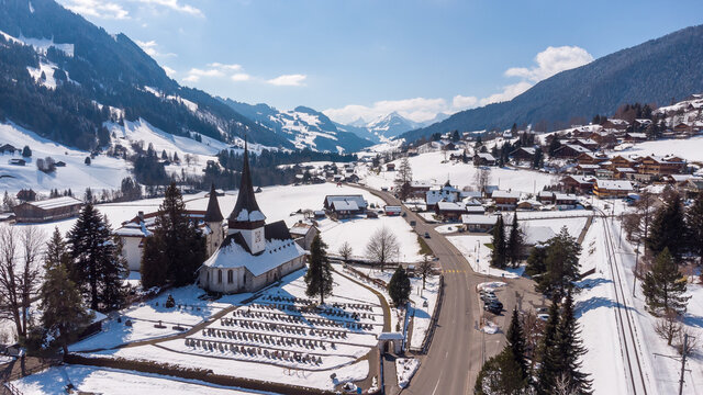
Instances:
[[[447,158],[453,153],[447,153]],[[460,151],[454,151],[460,154]],[[426,153],[409,158],[413,171],[413,180],[431,181],[437,185],[447,181],[459,188],[467,185],[476,185],[477,168],[472,163],[457,163],[454,161],[445,162],[445,153]],[[393,161],[395,168],[399,168],[400,160]],[[489,184],[499,185],[503,190],[513,190],[525,193],[535,193],[542,191],[545,185],[553,184],[555,180],[553,176],[528,170],[514,170],[510,168],[490,168],[491,177]],[[391,188],[397,177],[397,171],[381,171],[379,174],[358,169],[358,174],[362,182],[368,187],[381,189],[381,187]]]

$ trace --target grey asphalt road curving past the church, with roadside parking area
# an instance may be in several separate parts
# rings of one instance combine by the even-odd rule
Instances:
[[[383,199],[386,204],[401,205],[400,200],[388,192],[361,188]],[[483,311],[476,286],[481,282],[500,279],[475,273],[459,250],[434,229],[436,224],[426,224],[405,207],[403,212],[406,212],[408,222],[415,221],[419,235],[429,234],[425,241],[438,258],[445,280],[444,302],[432,345],[427,354],[421,357],[420,369],[403,394],[472,394],[483,360],[500,352],[505,343],[503,334],[484,335],[478,330]],[[500,316],[488,314],[501,329],[507,327],[515,305],[521,311],[544,306],[544,301],[533,292],[531,281],[503,281],[507,285],[498,291],[496,295],[505,311]]]

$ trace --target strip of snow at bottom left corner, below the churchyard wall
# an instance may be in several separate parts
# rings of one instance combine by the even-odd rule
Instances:
[[[41,373],[19,379],[12,382],[12,384],[22,394],[37,395],[65,393],[65,387],[68,384],[72,384],[77,391],[83,393],[111,395],[265,394],[261,392],[247,392],[239,388],[220,386],[197,380],[83,365],[49,368]]]

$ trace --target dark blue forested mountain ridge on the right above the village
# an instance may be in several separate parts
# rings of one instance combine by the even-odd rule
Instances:
[[[703,91],[703,25],[618,50],[543,80],[511,101],[461,111],[437,124],[404,133],[409,142],[445,133],[568,126],[574,117],[610,114],[624,103],[669,104]],[[545,127],[547,126],[547,127]]]

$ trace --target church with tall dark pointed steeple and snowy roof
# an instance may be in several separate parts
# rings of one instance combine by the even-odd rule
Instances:
[[[210,194],[205,217],[223,219],[215,193]],[[199,286],[210,292],[255,292],[305,266],[306,251],[293,240],[286,223],[266,224],[254,194],[246,144],[239,193],[227,218],[226,237],[212,244],[219,247],[198,273]]]

